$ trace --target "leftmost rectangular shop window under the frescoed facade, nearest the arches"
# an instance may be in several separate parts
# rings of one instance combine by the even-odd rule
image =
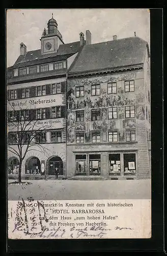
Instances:
[[[75,174],[76,175],[86,175],[87,165],[86,165],[86,155],[75,155]]]

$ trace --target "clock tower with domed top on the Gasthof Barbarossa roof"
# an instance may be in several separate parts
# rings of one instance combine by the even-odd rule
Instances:
[[[64,44],[63,37],[58,30],[57,21],[53,18],[48,20],[47,30],[44,29],[41,37],[41,54],[55,53],[59,46]]]

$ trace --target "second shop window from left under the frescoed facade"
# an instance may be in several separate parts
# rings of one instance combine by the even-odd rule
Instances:
[[[89,173],[90,175],[101,174],[101,155],[100,154],[89,155]]]

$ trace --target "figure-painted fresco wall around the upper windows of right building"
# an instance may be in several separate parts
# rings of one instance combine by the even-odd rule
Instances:
[[[140,71],[137,71],[140,72]],[[141,83],[143,84],[143,71],[141,71]],[[119,141],[125,141],[125,129],[136,128],[136,119],[145,119],[145,110],[142,103],[145,101],[143,87],[140,79],[136,80],[135,92],[125,93],[125,80],[136,78],[135,72],[120,73],[113,75],[101,75],[84,79],[68,80],[68,138],[69,143],[75,143],[75,133],[85,132],[85,142],[91,143],[91,132],[100,131],[101,141],[107,141],[108,130],[118,130]],[[117,94],[107,93],[107,83],[117,82]],[[100,95],[91,95],[92,84],[100,84]],[[75,97],[75,88],[84,86],[84,97]],[[135,118],[125,118],[125,106],[135,105]],[[118,119],[108,120],[107,108],[117,106]],[[91,120],[91,109],[100,108],[101,118]],[[84,110],[84,122],[75,122],[75,110]],[[149,114],[148,114],[149,115]],[[149,119],[149,118],[148,118]]]

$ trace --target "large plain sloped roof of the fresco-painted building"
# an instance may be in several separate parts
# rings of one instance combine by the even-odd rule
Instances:
[[[147,42],[139,37],[85,45],[68,73],[144,63],[147,46]]]

